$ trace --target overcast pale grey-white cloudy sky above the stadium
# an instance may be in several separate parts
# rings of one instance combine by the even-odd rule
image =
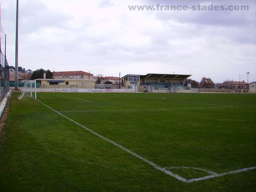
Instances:
[[[157,10],[157,3],[163,10]],[[248,6],[248,11],[198,10]],[[0,0],[9,66],[15,66],[16,0]],[[128,6],[154,6],[153,11]],[[197,6],[171,11],[168,6]],[[160,7],[159,7],[160,9]],[[94,75],[170,73],[256,81],[255,0],[20,0],[19,59],[26,70]]]

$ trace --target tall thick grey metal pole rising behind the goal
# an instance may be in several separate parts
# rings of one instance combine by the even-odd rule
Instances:
[[[15,89],[19,88],[19,76],[18,76],[18,25],[19,25],[19,0],[17,0],[17,7],[16,7]]]

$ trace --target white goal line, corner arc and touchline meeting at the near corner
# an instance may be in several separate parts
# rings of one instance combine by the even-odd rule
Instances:
[[[125,148],[125,147],[123,147],[122,145],[119,145],[119,144],[117,144],[117,143],[115,143],[115,142],[113,142],[113,141],[107,139],[106,137],[103,137],[102,135],[97,134],[96,132],[94,132],[94,131],[90,130],[89,128],[85,127],[84,125],[81,125],[80,123],[74,121],[73,119],[70,119],[69,117],[67,117],[67,116],[65,116],[65,115],[63,115],[63,114],[61,114],[60,112],[54,110],[53,108],[50,108],[48,105],[44,104],[43,102],[39,101],[38,99],[36,99],[36,100],[37,100],[38,102],[40,102],[42,105],[44,105],[44,106],[46,106],[47,108],[49,108],[50,110],[54,111],[55,113],[58,113],[59,115],[63,116],[64,118],[66,118],[66,119],[68,119],[68,120],[70,120],[71,122],[75,123],[76,125],[79,125],[80,127],[86,129],[87,131],[90,131],[92,134],[94,134],[94,135],[96,135],[96,136],[102,138],[102,139],[105,140],[105,141],[108,141],[109,143],[112,143],[113,145],[115,145],[115,146],[121,148],[122,150],[124,150],[124,151],[126,151],[126,152],[132,154],[134,157],[137,157],[137,158],[143,160],[145,163],[150,164],[150,165],[153,166],[154,168],[156,168],[156,169],[158,169],[158,170],[160,170],[160,171],[162,171],[162,172],[164,172],[164,173],[166,173],[166,174],[168,174],[168,175],[171,175],[172,177],[175,177],[176,179],[178,179],[178,180],[180,180],[180,181],[183,181],[184,183],[192,183],[192,182],[194,182],[194,181],[207,180],[207,179],[214,178],[214,177],[222,177],[222,176],[224,176],[224,175],[230,175],[230,174],[235,174],[235,173],[240,173],[240,172],[245,172],[245,171],[249,171],[249,170],[252,170],[252,169],[256,169],[256,167],[250,167],[250,168],[244,168],[244,169],[239,169],[239,170],[230,171],[230,172],[224,172],[224,173],[220,173],[220,174],[216,174],[216,173],[214,173],[214,172],[211,172],[213,175],[209,175],[209,176],[206,176],[206,177],[200,177],[200,178],[194,178],[194,179],[189,179],[189,180],[187,180],[187,179],[185,179],[184,177],[181,177],[180,175],[177,175],[177,174],[175,174],[175,173],[173,173],[173,172],[170,172],[170,171],[166,170],[166,168],[160,167],[159,165],[153,163],[152,161],[150,161],[150,160],[148,160],[148,159],[146,159],[146,158],[144,158],[144,157],[141,157],[140,155],[138,155],[138,154],[136,154],[136,153],[130,151],[128,148]],[[183,167],[183,168],[189,169],[189,168],[186,168],[186,167]],[[201,168],[190,168],[190,169],[199,169],[199,170],[204,170],[204,171],[205,171],[205,169],[201,169]],[[207,171],[207,170],[206,170],[206,171]],[[209,173],[210,171],[207,171],[207,172]]]

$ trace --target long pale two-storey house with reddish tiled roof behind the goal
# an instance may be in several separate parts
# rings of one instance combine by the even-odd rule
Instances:
[[[77,80],[92,80],[93,74],[84,71],[60,71],[53,72],[53,79],[77,79]]]

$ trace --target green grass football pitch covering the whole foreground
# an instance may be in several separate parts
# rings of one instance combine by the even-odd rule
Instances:
[[[256,169],[184,183],[97,137],[193,179],[256,166],[256,95],[13,93],[0,191],[256,191]],[[176,168],[175,168],[176,167]]]

